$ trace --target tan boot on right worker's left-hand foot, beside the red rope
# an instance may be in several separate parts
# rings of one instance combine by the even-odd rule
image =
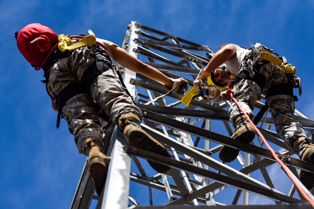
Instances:
[[[244,115],[241,115],[236,119],[235,124],[243,120]],[[245,117],[245,116],[244,116]],[[239,140],[244,143],[250,143],[255,137],[255,130],[254,127],[251,125],[251,123],[246,122],[245,125],[241,126],[232,136],[231,138]],[[228,147],[228,146],[223,146],[220,150],[219,153],[219,158],[224,161],[225,163],[230,163],[234,161],[239,154],[238,149]]]

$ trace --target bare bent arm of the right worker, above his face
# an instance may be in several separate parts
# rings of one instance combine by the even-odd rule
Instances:
[[[204,68],[204,74],[211,73],[229,60],[236,53],[236,47],[232,44],[227,44],[222,49],[217,51],[212,59],[208,62],[207,66]]]

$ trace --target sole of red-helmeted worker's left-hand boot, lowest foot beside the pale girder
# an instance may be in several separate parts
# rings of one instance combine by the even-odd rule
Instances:
[[[107,171],[108,168],[103,159],[95,157],[89,161],[89,172],[98,196],[100,196],[106,183]]]

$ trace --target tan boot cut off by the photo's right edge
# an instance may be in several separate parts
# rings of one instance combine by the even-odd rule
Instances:
[[[300,137],[295,140],[293,150],[299,153],[300,160],[306,161],[311,165],[314,164],[314,146],[310,144],[308,138]],[[311,190],[314,187],[313,173],[301,170],[299,177],[306,189]]]

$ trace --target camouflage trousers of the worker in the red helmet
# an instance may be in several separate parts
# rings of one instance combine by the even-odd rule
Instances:
[[[65,62],[67,61],[65,60]],[[53,70],[51,67],[49,83],[58,83],[54,86],[60,87],[73,81],[81,82],[82,76],[80,75],[84,74],[82,71],[86,70],[86,66],[77,67],[75,70],[65,69],[68,66],[71,65],[63,66],[62,70]],[[95,78],[89,93],[73,96],[62,109],[62,114],[68,122],[69,131],[74,135],[80,153],[84,153],[82,145],[87,138],[97,137],[103,140],[105,137],[104,130],[100,126],[95,102],[116,124],[120,116],[126,113],[133,113],[142,119],[142,112],[134,104],[132,97],[127,94],[127,89],[122,86],[116,70],[110,66],[109,68]],[[76,74],[73,75],[73,72]],[[63,85],[62,82],[64,82]],[[54,86],[52,86],[54,92],[62,90],[54,89]]]

